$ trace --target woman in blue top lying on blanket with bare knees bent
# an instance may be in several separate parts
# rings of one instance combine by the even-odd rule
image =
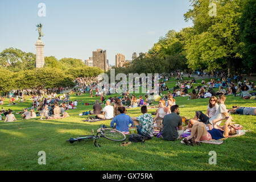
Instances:
[[[216,129],[207,130],[204,123],[196,122],[191,130],[191,135],[184,138],[183,142],[187,145],[200,144],[199,141],[211,140],[211,139],[221,139],[228,137],[229,135],[235,135],[236,129],[232,125],[232,117],[225,117],[226,122],[224,126],[218,126]],[[193,137],[196,137],[195,140]]]

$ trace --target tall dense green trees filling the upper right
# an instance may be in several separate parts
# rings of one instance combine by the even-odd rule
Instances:
[[[190,0],[192,9],[184,14],[192,27],[170,30],[125,72],[171,72],[186,68],[208,72],[255,72],[255,0]],[[216,16],[210,2],[216,5]],[[237,66],[239,65],[239,66]],[[249,72],[247,72],[249,73]]]

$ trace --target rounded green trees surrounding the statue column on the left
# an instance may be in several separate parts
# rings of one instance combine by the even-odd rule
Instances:
[[[35,55],[8,48],[0,53],[0,93],[14,89],[74,86],[77,77],[98,76],[100,68],[88,67],[81,60],[45,57],[44,68],[35,68]]]

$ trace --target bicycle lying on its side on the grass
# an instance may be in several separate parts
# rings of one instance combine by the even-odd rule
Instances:
[[[98,144],[98,140],[103,137],[115,142],[122,142],[126,139],[125,134],[123,134],[121,131],[115,130],[115,129],[108,129],[105,125],[101,125],[100,129],[98,129],[98,132],[96,135],[94,135],[94,130],[92,130],[92,135],[81,135],[77,138],[70,138],[66,140],[67,142],[74,143],[74,142],[81,142],[83,140],[93,139],[94,146],[95,147],[101,147],[100,144]]]

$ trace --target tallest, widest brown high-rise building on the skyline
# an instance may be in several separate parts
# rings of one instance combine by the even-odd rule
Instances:
[[[104,67],[105,61],[105,67]],[[102,49],[97,49],[97,51],[93,51],[93,67],[98,67],[101,69],[106,69],[108,71],[108,64],[106,60],[106,51]]]

